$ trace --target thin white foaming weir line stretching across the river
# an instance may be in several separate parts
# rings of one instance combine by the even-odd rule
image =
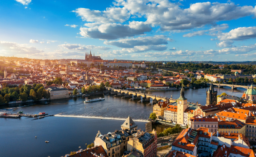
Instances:
[[[126,120],[126,118],[120,118],[120,117],[101,117],[101,116],[85,116],[85,115],[65,115],[65,114],[54,114],[56,117],[75,117],[75,118],[93,118],[93,119],[111,119],[111,120]],[[133,121],[136,122],[148,122],[144,119],[133,119]]]

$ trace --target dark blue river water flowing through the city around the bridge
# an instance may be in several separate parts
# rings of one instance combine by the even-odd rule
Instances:
[[[241,97],[245,89],[231,90],[230,87],[215,88],[218,95],[225,92],[229,95]],[[187,89],[185,97],[189,102],[206,103],[206,88]],[[141,91],[152,95],[173,97],[177,99],[180,91]],[[90,97],[94,98],[94,97]],[[77,151],[78,147],[86,148],[86,143],[94,141],[97,131],[102,134],[120,130],[120,125],[130,115],[138,124],[138,128],[145,128],[146,119],[152,112],[149,102],[131,101],[130,98],[121,99],[120,96],[105,96],[105,100],[84,103],[87,97],[75,97],[51,100],[50,104],[39,102],[31,105],[0,106],[0,113],[46,112],[54,117],[38,120],[22,117],[20,119],[0,118],[0,156],[38,156],[59,157]],[[162,131],[164,126],[153,126]],[[37,136],[37,138],[35,138]],[[45,143],[44,141],[50,141]]]

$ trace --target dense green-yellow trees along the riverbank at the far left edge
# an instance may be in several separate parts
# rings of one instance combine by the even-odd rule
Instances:
[[[50,98],[50,92],[44,89],[43,84],[34,83],[31,85],[9,86],[2,83],[3,88],[0,90],[0,105],[8,104],[10,101],[22,100],[23,102],[32,99],[38,101],[42,98]]]

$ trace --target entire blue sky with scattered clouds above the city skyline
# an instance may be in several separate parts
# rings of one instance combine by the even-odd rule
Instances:
[[[256,61],[256,2],[7,0],[0,56]]]

